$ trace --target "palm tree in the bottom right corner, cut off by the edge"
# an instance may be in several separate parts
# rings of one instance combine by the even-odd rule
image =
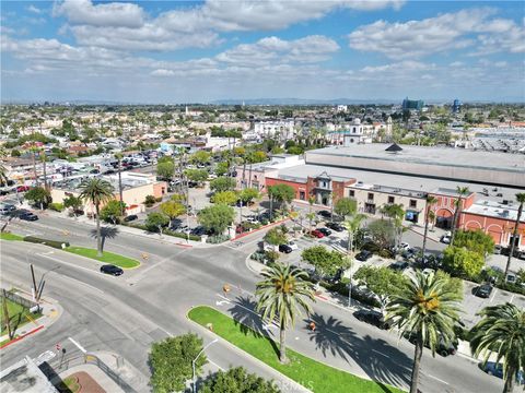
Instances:
[[[478,315],[481,320],[471,330],[470,350],[475,357],[483,354],[485,364],[495,352],[495,362],[503,359],[503,393],[512,392],[516,372],[525,370],[525,310],[506,302],[486,307]]]

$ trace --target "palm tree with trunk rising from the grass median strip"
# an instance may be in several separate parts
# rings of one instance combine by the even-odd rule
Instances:
[[[276,263],[262,272],[265,279],[257,283],[257,311],[262,312],[262,319],[273,321],[279,318],[279,360],[288,362],[285,332],[293,326],[295,319],[301,315],[301,309],[311,312],[307,300],[315,301],[312,283],[306,272]]]

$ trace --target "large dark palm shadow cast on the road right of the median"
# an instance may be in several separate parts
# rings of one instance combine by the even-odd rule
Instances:
[[[331,315],[325,320],[315,313],[305,323],[312,321],[316,329],[310,331],[310,340],[325,357],[331,354],[347,361],[353,359],[372,380],[381,381],[377,383],[385,392],[390,392],[390,389],[383,383],[409,385],[412,360],[397,347],[382,338],[358,336],[351,327]]]

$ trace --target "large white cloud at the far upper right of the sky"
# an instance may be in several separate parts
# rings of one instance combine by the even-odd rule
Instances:
[[[349,34],[349,46],[381,52],[392,59],[419,58],[476,46],[485,52],[523,51],[523,26],[516,26],[510,20],[490,20],[493,14],[494,10],[485,8],[405,23],[377,21]]]

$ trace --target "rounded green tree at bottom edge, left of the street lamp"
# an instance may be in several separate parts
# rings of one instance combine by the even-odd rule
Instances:
[[[202,348],[202,338],[192,333],[153,343],[149,355],[152,369],[150,383],[153,391],[156,393],[183,391],[186,381],[192,377],[192,361]],[[195,362],[196,372],[201,373],[207,362],[206,355],[200,355]]]

